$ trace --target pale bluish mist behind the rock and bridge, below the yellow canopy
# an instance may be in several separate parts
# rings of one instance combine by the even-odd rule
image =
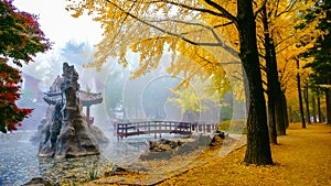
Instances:
[[[211,86],[212,77],[194,77],[186,88],[179,87],[179,90],[173,91],[186,77],[182,74],[173,76],[167,70],[171,61],[167,53],[156,69],[136,79],[130,78],[130,73],[138,68],[139,55],[128,54],[128,68],[117,64],[117,58],[110,58],[97,72],[96,68],[83,68],[84,64],[94,61],[93,54],[94,50],[88,43],[67,42],[60,53],[52,52],[47,56],[40,56],[35,63],[23,67],[22,97],[18,105],[34,110],[31,117],[23,121],[20,130],[36,130],[45,117],[47,105],[43,101],[43,92],[49,90],[57,75],[62,75],[64,62],[75,66],[82,90],[103,94],[103,102],[92,106],[90,116],[95,119],[94,124],[109,133],[114,133],[113,121],[118,120],[154,119],[217,123],[246,116],[243,109],[245,102],[236,100],[234,91],[228,91],[224,97],[220,97],[216,91],[206,94],[205,89]],[[183,103],[179,103],[180,99],[184,99],[180,98],[179,92],[183,91],[190,92],[192,99],[196,99],[192,102],[199,109],[188,110]],[[192,99],[188,99],[186,102]],[[225,116],[224,111],[229,113]]]

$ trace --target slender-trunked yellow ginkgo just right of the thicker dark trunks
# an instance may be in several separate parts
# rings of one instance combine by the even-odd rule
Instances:
[[[316,29],[320,19],[324,17],[322,13],[316,14],[317,17],[311,19],[309,23],[305,18],[307,11],[311,8],[313,9],[317,3],[316,1],[289,1],[289,3],[286,3],[284,11],[277,11],[280,17],[276,17],[270,24],[270,30],[275,36],[274,44],[278,62],[277,69],[281,83],[281,95],[287,92],[292,97],[292,94],[296,92],[300,105],[302,105],[301,84],[305,80],[307,84],[307,77],[310,73],[309,69],[303,69],[302,66],[312,59],[311,57],[302,57],[302,54],[311,48],[317,39],[323,34],[321,30]],[[278,7],[281,7],[281,3],[278,4]],[[270,14],[271,17],[274,15],[273,13]],[[306,26],[302,26],[303,24]],[[279,101],[277,102],[279,103]],[[300,116],[305,128],[302,107],[300,107]]]

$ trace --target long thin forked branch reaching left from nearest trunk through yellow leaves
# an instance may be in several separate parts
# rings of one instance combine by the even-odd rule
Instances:
[[[150,28],[152,28],[152,29],[156,29],[156,30],[158,30],[158,31],[160,31],[160,32],[162,32],[162,33],[166,33],[166,34],[168,34],[168,35],[171,35],[171,36],[175,36],[175,37],[178,37],[178,39],[181,39],[181,40],[183,40],[183,41],[185,41],[185,42],[188,42],[188,43],[190,43],[190,44],[192,44],[192,45],[199,45],[199,46],[221,46],[221,47],[225,48],[228,53],[233,54],[234,56],[237,55],[237,52],[236,52],[234,48],[232,48],[232,47],[225,45],[225,44],[221,41],[221,39],[217,36],[217,34],[214,32],[213,28],[211,28],[211,26],[201,24],[201,26],[202,26],[202,25],[205,26],[205,29],[210,30],[210,31],[213,33],[213,35],[214,35],[215,40],[217,41],[217,43],[194,42],[194,41],[191,41],[190,39],[183,36],[183,34],[178,34],[178,33],[173,33],[173,32],[167,31],[167,30],[164,30],[164,29],[162,29],[162,28],[159,28],[159,26],[157,26],[157,25],[154,25],[154,24],[152,24],[152,23],[149,23],[149,22],[146,21],[146,20],[142,20],[142,19],[140,19],[140,18],[134,15],[132,13],[125,11],[122,8],[120,8],[120,7],[117,6],[116,3],[111,2],[110,0],[106,0],[106,1],[107,1],[108,3],[110,3],[110,4],[113,4],[114,7],[116,7],[117,9],[119,9],[121,12],[124,12],[124,13],[126,13],[127,15],[131,17],[132,19],[135,19],[135,20],[137,20],[137,21],[139,21],[139,22],[141,22],[141,23],[143,23],[143,24],[146,24],[146,25],[148,25],[148,26],[150,26]],[[179,20],[177,20],[177,21],[179,21]],[[179,21],[179,22],[180,22],[180,21]],[[192,23],[192,24],[199,25],[199,23]]]

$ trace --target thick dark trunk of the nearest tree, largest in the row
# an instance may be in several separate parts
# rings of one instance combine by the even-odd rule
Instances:
[[[249,87],[245,163],[268,165],[273,164],[273,157],[268,136],[266,100],[261,84],[256,43],[256,23],[252,0],[237,0],[237,21],[241,43],[239,56],[247,75]]]

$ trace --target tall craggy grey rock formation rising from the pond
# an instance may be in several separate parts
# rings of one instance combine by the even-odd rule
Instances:
[[[98,141],[86,122],[77,97],[77,80],[74,66],[64,63],[62,77],[57,76],[46,94],[49,97],[61,95],[61,101],[49,106],[46,121],[36,134],[39,156],[61,158],[99,154]]]

